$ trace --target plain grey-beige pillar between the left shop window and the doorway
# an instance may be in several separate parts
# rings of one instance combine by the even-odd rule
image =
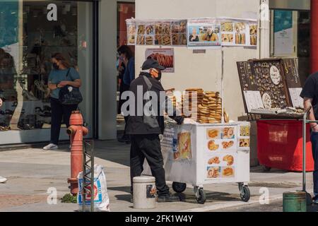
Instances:
[[[99,138],[117,137],[117,1],[100,1]]]

